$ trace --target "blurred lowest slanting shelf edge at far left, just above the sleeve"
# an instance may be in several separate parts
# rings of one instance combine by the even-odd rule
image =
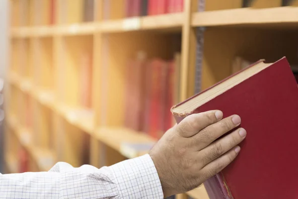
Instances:
[[[12,115],[9,115],[6,118],[6,122],[9,127],[13,129],[13,132],[15,133],[15,136],[19,140],[20,144],[28,151],[30,156],[37,163],[40,171],[48,171],[54,166],[56,161],[54,153],[51,150],[33,146],[32,132],[30,129],[21,126],[17,119]]]

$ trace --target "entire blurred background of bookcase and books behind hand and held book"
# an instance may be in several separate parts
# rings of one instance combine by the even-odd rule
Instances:
[[[0,172],[146,154],[170,108],[259,59],[297,76],[298,0],[0,0]],[[177,199],[209,199],[204,186]]]

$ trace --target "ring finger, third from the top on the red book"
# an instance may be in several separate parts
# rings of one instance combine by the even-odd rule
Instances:
[[[227,151],[238,145],[240,142],[242,142],[245,136],[245,129],[239,128],[224,136],[220,140],[217,140],[216,142],[207,146],[206,148],[202,149],[200,151],[200,154],[202,154],[202,165],[205,166],[210,162],[216,160],[217,158],[221,157],[224,153],[226,153]]]

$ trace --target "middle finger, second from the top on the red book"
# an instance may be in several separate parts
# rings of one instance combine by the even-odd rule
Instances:
[[[194,143],[198,146],[198,150],[201,150],[228,131],[237,127],[240,122],[241,118],[238,115],[231,115],[229,117],[226,117],[218,121],[217,123],[214,123],[202,129],[193,137]]]

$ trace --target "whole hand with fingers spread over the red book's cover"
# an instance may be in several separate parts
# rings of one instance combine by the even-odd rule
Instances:
[[[211,110],[192,114],[169,129],[150,150],[164,197],[199,187],[230,164],[246,136],[243,128],[226,132],[241,122],[238,115],[223,119],[223,112]]]

